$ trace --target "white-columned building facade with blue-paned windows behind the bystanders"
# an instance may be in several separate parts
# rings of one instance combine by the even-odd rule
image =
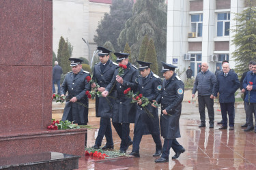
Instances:
[[[202,62],[210,71],[223,60],[236,67],[231,40],[235,13],[244,9],[243,0],[169,0],[167,18],[167,63],[193,69],[197,75]],[[182,74],[186,78],[186,74]]]

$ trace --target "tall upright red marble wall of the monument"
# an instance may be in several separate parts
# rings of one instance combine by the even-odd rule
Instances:
[[[0,133],[51,122],[53,2],[0,1]]]

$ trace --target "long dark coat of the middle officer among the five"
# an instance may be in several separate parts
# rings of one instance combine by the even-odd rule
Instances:
[[[111,83],[106,87],[106,90],[109,92],[111,92],[112,90],[117,90],[117,97],[115,99],[112,122],[134,123],[137,104],[130,103],[132,99],[124,95],[124,90],[129,87],[132,90],[137,89],[137,83],[135,82],[135,80],[138,77],[139,72],[136,68],[132,66],[132,64],[128,63],[127,69],[125,69],[124,75],[122,75],[124,82],[123,84],[119,84],[115,80],[116,76],[118,75],[118,71],[119,69],[115,70]]]

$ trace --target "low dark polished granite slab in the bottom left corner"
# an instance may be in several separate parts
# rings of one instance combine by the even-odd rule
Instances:
[[[0,158],[0,169],[78,169],[80,157],[58,152],[11,156]]]

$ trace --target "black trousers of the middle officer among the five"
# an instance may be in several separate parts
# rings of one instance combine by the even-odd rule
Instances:
[[[112,122],[112,124],[121,139],[120,150],[126,151],[130,145],[130,141],[132,141],[132,139],[130,139],[130,123]]]

